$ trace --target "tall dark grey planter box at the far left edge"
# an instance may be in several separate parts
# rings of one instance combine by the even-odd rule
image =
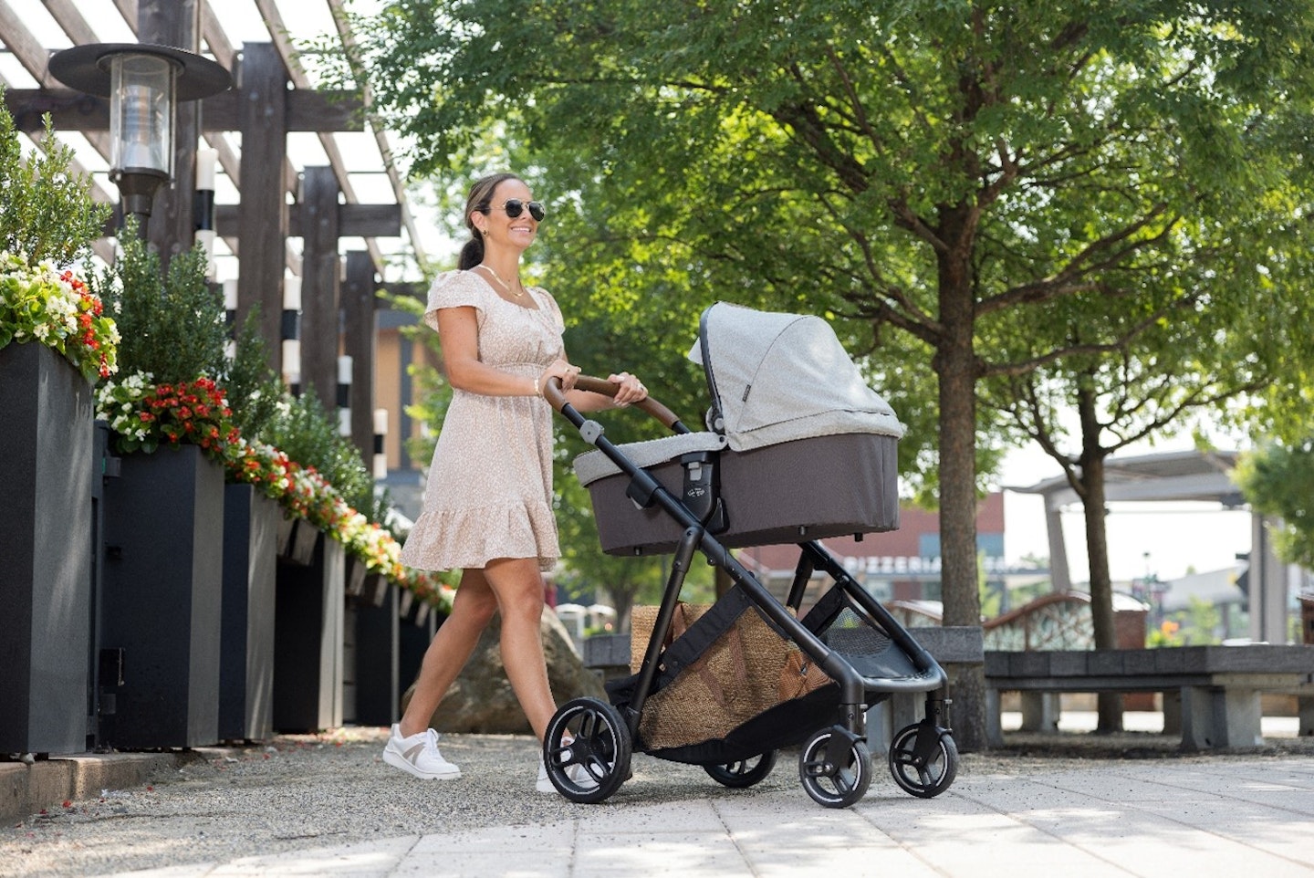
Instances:
[[[87,749],[95,400],[45,344],[0,350],[0,752]]]

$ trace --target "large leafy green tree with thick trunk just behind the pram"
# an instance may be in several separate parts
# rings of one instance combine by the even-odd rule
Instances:
[[[1298,8],[1297,8],[1298,7]],[[435,22],[438,26],[435,26]],[[936,379],[946,624],[978,624],[978,382],[999,333],[1101,285],[1194,193],[1271,172],[1240,134],[1309,97],[1310,4],[396,0],[356,21],[417,171],[498,118],[579,242],[551,260],[649,314],[715,288],[871,326]],[[572,210],[572,208],[574,208]],[[1159,271],[1181,266],[1162,255]],[[590,271],[591,269],[591,271]],[[568,284],[570,281],[566,281]],[[894,333],[891,333],[891,330]],[[924,402],[924,401],[922,401]],[[925,406],[924,406],[925,407]],[[982,681],[958,681],[961,745]]]

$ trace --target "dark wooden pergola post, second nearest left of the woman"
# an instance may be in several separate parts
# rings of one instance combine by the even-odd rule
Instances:
[[[301,180],[301,384],[326,407],[338,398],[342,256],[338,198],[331,167],[306,168]],[[353,364],[353,369],[359,365]],[[355,384],[355,379],[352,379]]]

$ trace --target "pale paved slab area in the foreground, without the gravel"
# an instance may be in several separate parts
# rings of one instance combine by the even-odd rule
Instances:
[[[184,875],[671,874],[1285,875],[1314,874],[1314,758],[1101,764],[961,778],[938,799],[882,789],[844,811],[802,793],[633,810],[595,807],[541,827],[372,844],[134,873]]]

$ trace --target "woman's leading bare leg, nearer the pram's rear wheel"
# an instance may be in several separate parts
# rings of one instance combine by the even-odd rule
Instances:
[[[543,574],[537,559],[498,559],[484,568],[502,612],[502,664],[533,733],[557,712],[543,657]]]

